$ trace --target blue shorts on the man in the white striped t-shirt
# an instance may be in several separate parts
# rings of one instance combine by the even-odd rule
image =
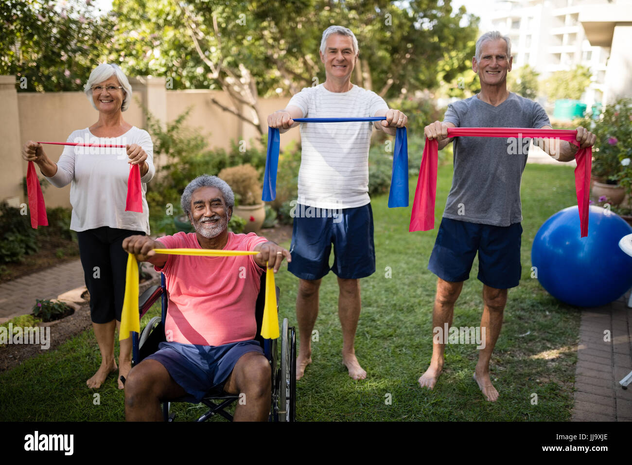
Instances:
[[[288,270],[297,278],[318,280],[332,270],[339,278],[366,278],[375,273],[373,211],[371,204],[356,208],[325,209],[297,204]],[[319,212],[319,218],[307,218]],[[330,213],[331,211],[327,211]],[[329,267],[331,244],[334,265]]]

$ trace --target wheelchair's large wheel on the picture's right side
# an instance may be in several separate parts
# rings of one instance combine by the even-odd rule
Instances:
[[[295,421],[296,395],[296,340],[294,328],[283,319],[281,330],[281,383],[279,393],[279,421]]]

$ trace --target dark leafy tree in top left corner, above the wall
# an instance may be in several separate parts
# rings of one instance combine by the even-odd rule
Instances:
[[[3,1],[0,74],[16,75],[18,90],[77,90],[107,56],[112,25],[91,2]],[[25,80],[23,78],[26,78]]]

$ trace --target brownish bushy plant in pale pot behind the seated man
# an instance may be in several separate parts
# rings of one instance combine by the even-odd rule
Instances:
[[[259,173],[252,164],[238,164],[219,171],[218,178],[223,179],[233,189],[235,206],[233,215],[246,220],[243,232],[259,232],[265,220],[265,204],[261,200]]]

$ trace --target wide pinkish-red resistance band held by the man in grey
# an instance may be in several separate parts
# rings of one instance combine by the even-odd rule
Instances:
[[[532,129],[532,128],[448,128],[448,137],[544,137],[567,140],[579,147],[577,131],[568,129]],[[413,211],[410,216],[409,231],[428,231],[434,229],[435,197],[437,195],[437,164],[439,143],[436,139],[426,139],[423,147],[422,166],[419,169]],[[592,168],[592,147],[580,149],[575,154],[575,190],[580,209],[581,237],[588,235],[588,196],[590,194],[590,170]]]

